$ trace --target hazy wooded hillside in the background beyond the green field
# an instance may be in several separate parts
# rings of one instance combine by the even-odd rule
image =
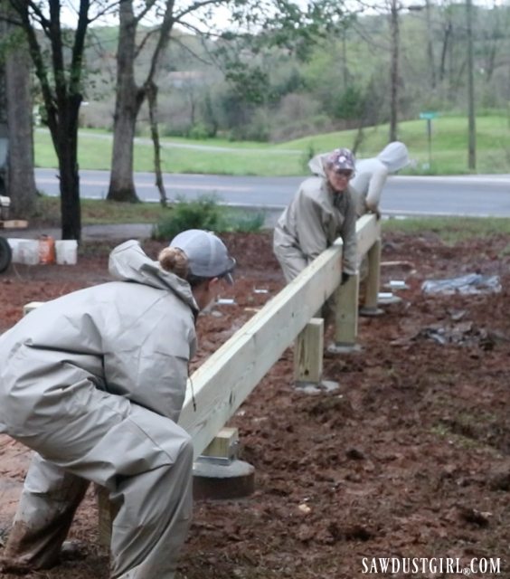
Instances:
[[[477,116],[503,114],[510,123],[510,6],[472,10]],[[303,39],[297,50],[263,46],[253,37],[213,39],[175,28],[158,73],[161,135],[279,142],[375,126],[390,119],[392,81],[399,120],[417,119],[427,110],[465,115],[466,5],[399,7],[396,39],[390,5],[371,12],[354,11],[340,32],[314,42]],[[117,46],[117,28],[90,29],[82,127],[112,128]],[[136,61],[140,79],[151,52],[149,40]],[[142,109],[138,134],[146,133],[147,123]]]

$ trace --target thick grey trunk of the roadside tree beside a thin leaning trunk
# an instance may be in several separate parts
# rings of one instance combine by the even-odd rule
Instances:
[[[117,100],[107,199],[137,203],[133,177],[134,138],[138,111],[145,95],[135,81],[137,20],[132,1],[119,4],[118,17]]]

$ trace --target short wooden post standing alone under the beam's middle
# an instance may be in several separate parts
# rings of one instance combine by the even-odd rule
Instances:
[[[294,345],[294,380],[318,384],[322,378],[324,319],[312,318]]]

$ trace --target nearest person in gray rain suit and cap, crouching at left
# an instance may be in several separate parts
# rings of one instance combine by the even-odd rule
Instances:
[[[117,509],[110,576],[175,576],[193,503],[193,446],[176,422],[195,318],[234,266],[201,230],[158,261],[125,242],[109,258],[117,280],[49,301],[0,337],[0,432],[35,451],[4,571],[58,564],[92,481]]]

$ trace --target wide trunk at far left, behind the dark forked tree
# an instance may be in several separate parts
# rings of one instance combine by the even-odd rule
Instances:
[[[22,219],[33,214],[36,195],[30,64],[30,55],[20,39],[20,45],[6,57],[5,85],[9,139],[7,193],[11,197],[11,217]]]

